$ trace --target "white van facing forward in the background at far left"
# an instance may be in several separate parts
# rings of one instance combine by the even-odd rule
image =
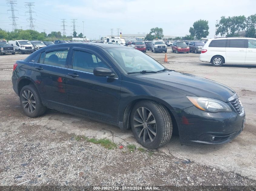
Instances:
[[[34,47],[28,40],[9,40],[8,43],[14,46],[15,52],[20,54],[34,52]]]

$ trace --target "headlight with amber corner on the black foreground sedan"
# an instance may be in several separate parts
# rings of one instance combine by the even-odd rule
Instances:
[[[188,100],[199,110],[211,113],[231,112],[227,103],[207,97],[187,96]]]

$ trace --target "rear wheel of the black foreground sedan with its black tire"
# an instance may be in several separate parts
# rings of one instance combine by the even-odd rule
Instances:
[[[27,98],[25,97],[26,92],[28,92],[28,93],[31,92],[32,93],[31,97],[30,97],[31,94],[28,96],[28,97],[30,97],[30,102],[29,103],[26,103],[26,100],[27,100]],[[23,93],[24,93],[25,96],[22,95]],[[25,102],[25,103],[23,103],[23,102]],[[29,117],[41,116],[45,113],[45,110],[46,110],[46,107],[43,106],[43,104],[42,104],[41,98],[39,96],[39,93],[38,93],[35,85],[26,85],[21,89],[21,91],[20,91],[20,104],[21,104],[22,109],[25,112],[25,114]],[[29,112],[29,106],[30,105],[32,105],[32,106],[30,107],[30,112]],[[34,108],[34,106],[35,106],[35,108]],[[34,111],[32,111],[33,108],[34,108]]]

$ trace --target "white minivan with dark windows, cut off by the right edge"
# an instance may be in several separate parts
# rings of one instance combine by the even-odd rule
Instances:
[[[209,39],[201,50],[199,60],[213,66],[256,64],[256,38],[223,37]]]

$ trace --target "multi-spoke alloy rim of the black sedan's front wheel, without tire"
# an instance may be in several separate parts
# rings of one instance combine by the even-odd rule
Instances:
[[[139,139],[145,143],[154,141],[157,133],[155,117],[146,107],[139,107],[133,116],[133,126]]]

